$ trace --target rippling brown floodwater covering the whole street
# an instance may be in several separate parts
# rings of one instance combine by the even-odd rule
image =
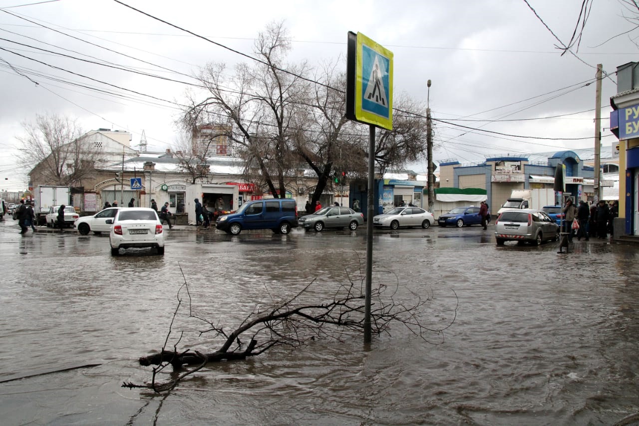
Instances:
[[[121,384],[150,380],[137,358],[164,344],[185,279],[194,312],[233,329],[313,279],[318,301],[361,280],[365,228],[172,230],[164,256],[112,257],[107,236],[23,237],[5,221],[2,423],[613,425],[639,413],[639,246],[575,240],[559,255],[556,243],[497,247],[491,230],[376,232],[374,285],[433,297],[427,326],[454,319],[431,343],[397,324],[369,350],[363,337],[273,349],[156,395]],[[198,337],[207,327],[178,315],[178,349],[218,349]]]

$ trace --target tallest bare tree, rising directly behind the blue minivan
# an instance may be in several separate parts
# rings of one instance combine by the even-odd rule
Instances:
[[[202,123],[229,122],[229,136],[236,155],[245,160],[245,175],[275,197],[286,197],[286,180],[295,166],[291,152],[292,123],[299,109],[306,65],[286,65],[289,38],[282,24],[271,24],[256,40],[257,65],[240,64],[235,75],[225,77],[224,64],[211,63],[197,79],[206,97],[190,95],[183,122],[189,127]],[[288,71],[284,71],[284,69]]]

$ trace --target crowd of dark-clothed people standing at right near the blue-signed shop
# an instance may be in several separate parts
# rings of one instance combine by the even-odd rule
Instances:
[[[568,234],[569,241],[573,241],[576,234],[577,240],[582,238],[589,241],[590,237],[605,239],[612,234],[612,223],[615,217],[619,217],[619,201],[613,201],[611,206],[604,200],[593,203],[590,207],[587,202],[580,200],[579,207],[573,204],[569,198],[562,208],[564,213],[564,232]],[[578,228],[573,225],[578,223]]]

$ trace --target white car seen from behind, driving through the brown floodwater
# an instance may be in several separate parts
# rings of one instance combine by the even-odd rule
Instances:
[[[109,244],[111,255],[117,256],[119,249],[157,248],[158,255],[164,255],[164,229],[155,210],[147,207],[118,209],[113,219],[107,219],[111,226]]]

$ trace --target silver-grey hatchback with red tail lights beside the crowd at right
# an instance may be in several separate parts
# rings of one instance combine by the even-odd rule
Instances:
[[[498,246],[505,241],[530,242],[539,246],[544,241],[557,241],[559,226],[543,210],[507,210],[495,221]]]

